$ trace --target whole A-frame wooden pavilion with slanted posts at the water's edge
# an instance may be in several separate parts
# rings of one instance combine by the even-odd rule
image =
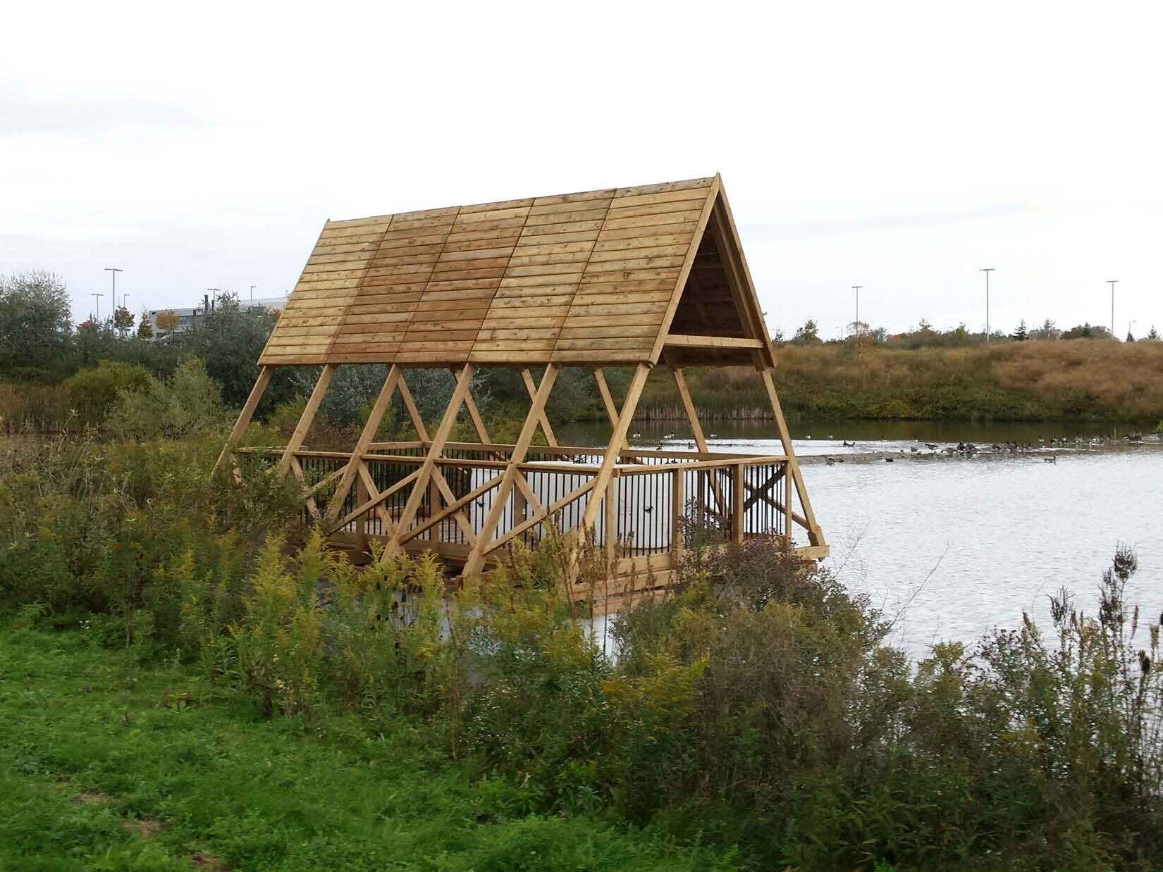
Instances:
[[[336,369],[370,363],[390,369],[351,452],[309,450],[305,438]],[[673,580],[684,519],[722,542],[776,534],[805,558],[828,553],[718,176],[328,221],[259,364],[231,445],[274,367],[321,365],[288,444],[264,451],[304,483],[305,520],[337,546],[365,551],[379,538],[385,556],[430,549],[472,574],[515,539],[535,543],[550,526],[577,530],[605,549],[607,593],[620,601]],[[629,445],[658,365],[673,376],[697,450]],[[728,365],[755,369],[782,453],[708,448],[683,367]],[[455,389],[431,429],[404,374],[434,366],[452,371]],[[483,366],[520,371],[530,407],[515,444],[490,438],[473,401]],[[557,443],[545,401],[563,366],[592,371],[609,417],[607,446]],[[604,367],[630,370],[620,405]],[[418,438],[376,442],[397,392]],[[479,442],[450,442],[462,409]],[[538,429],[548,444],[535,444]]]

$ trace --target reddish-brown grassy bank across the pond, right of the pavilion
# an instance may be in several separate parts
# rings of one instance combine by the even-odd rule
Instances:
[[[776,371],[784,412],[800,419],[1158,421],[1163,342],[1059,339],[969,348],[784,345]],[[691,371],[708,419],[770,416],[749,370]],[[684,419],[673,384],[654,373],[642,419]]]

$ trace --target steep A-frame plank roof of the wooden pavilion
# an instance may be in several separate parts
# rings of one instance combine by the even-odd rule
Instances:
[[[757,355],[771,344],[715,176],[328,221],[259,363]]]

